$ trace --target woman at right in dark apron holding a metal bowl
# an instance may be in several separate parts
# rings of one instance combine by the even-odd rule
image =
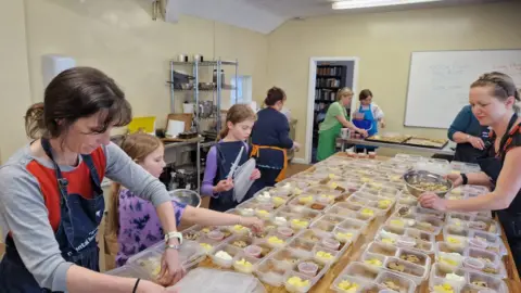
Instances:
[[[428,193],[420,196],[424,207],[444,212],[496,211],[508,244],[521,271],[521,101],[512,79],[501,73],[481,76],[471,86],[470,104],[481,125],[492,127],[491,145],[478,160],[482,173],[447,176],[455,186],[480,184],[492,192],[467,200],[443,200]]]

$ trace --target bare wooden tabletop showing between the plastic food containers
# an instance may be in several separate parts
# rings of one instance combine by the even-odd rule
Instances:
[[[336,155],[345,155],[345,153],[338,153]],[[385,157],[379,157],[379,160],[387,160]],[[312,167],[313,168],[313,167]],[[331,284],[333,283],[334,279],[342,272],[342,270],[351,263],[359,259],[361,253],[364,253],[365,246],[374,239],[374,234],[377,233],[380,226],[391,215],[393,209],[391,209],[387,215],[381,216],[374,219],[368,227],[368,231],[366,234],[360,235],[359,239],[348,247],[344,254],[341,256],[339,262],[331,267],[331,269],[320,279],[320,281],[315,284],[309,292],[312,293],[325,293],[325,292],[332,292],[330,290]],[[503,229],[503,228],[501,228]],[[505,231],[503,231],[503,241],[505,246],[507,247],[507,255],[504,257],[504,264],[507,269],[508,277],[504,281],[507,283],[509,291],[511,293],[521,293],[521,280],[519,278],[518,270],[516,268],[516,264],[513,262],[512,252],[508,242],[505,238]],[[436,241],[443,241],[443,233],[440,233],[436,237]],[[434,256],[431,255],[431,263],[434,263]],[[199,264],[200,267],[206,268],[219,268],[215,264],[212,263],[209,257],[206,257],[205,260]],[[223,268],[219,268],[223,269]],[[268,284],[264,284],[266,291],[268,293],[287,293],[288,291],[284,286],[274,288]],[[424,281],[420,286],[417,288],[417,292],[420,293],[428,293],[429,291],[429,280]]]

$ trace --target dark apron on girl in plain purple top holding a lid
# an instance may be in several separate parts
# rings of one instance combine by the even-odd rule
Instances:
[[[242,146],[244,146],[243,141],[219,142],[215,144],[215,149],[217,151],[217,174],[214,179],[214,186],[216,186],[220,180],[227,179],[226,177],[230,173],[231,165],[233,162],[236,162],[237,155],[241,151]],[[246,151],[243,151],[239,165],[244,164],[247,160],[249,154]],[[253,196],[253,187],[250,188],[243,199],[243,202]],[[229,191],[219,192],[218,198],[212,198],[209,200],[209,209],[226,212],[234,208],[238,204],[240,203],[233,200],[233,189],[231,189]]]

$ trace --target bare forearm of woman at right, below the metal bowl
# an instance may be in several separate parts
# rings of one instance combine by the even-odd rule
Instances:
[[[467,200],[446,200],[447,212],[481,212],[504,209],[505,201],[492,192]]]

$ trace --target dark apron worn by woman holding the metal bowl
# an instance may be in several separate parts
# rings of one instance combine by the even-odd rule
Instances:
[[[505,143],[510,137],[509,131],[517,119],[518,115],[513,114],[508,125],[507,132],[501,138],[499,152],[503,152]],[[499,174],[501,173],[505,155],[503,154],[497,157],[494,150],[494,139],[492,139],[491,142],[492,144],[488,146],[487,154],[479,157],[478,164],[480,164],[481,169],[492,179],[492,183],[495,187]],[[496,211],[496,214],[499,218],[499,222],[505,229],[505,235],[507,237],[508,244],[512,251],[518,272],[521,273],[521,191],[518,192],[508,208]]]

